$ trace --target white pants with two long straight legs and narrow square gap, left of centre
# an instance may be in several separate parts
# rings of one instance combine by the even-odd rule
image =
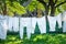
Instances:
[[[20,19],[20,37],[23,38],[23,28],[26,26],[28,38],[31,37],[31,18],[21,18]]]

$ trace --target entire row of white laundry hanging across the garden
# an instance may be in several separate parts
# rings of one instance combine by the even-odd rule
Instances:
[[[0,18],[1,18],[0,19],[0,29],[1,29],[0,30],[0,32],[1,32],[0,38],[2,38],[3,36],[4,36],[4,38],[7,37],[8,30],[14,31],[14,32],[19,31],[20,37],[23,38],[24,26],[26,26],[26,36],[28,36],[28,38],[30,38],[31,34],[34,34],[36,23],[38,24],[41,34],[46,33],[46,31],[47,31],[45,16],[43,16],[43,18],[16,18],[16,16],[2,16],[2,15],[0,15]],[[47,15],[47,19],[48,19],[51,32],[56,31],[55,30],[56,22],[58,23],[58,29],[62,28],[62,14],[58,14],[57,16]],[[1,25],[1,24],[3,24],[3,25]],[[66,28],[66,23],[63,24],[63,32],[66,32],[65,28]]]

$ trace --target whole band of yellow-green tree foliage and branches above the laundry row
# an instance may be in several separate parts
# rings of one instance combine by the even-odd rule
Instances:
[[[22,15],[26,10],[42,10],[45,15],[56,15],[66,11],[66,0],[0,0],[0,13]]]

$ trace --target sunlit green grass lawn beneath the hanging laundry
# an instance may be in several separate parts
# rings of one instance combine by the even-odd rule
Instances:
[[[32,34],[28,40],[26,35],[21,40],[18,35],[8,35],[7,40],[0,40],[0,44],[66,44],[66,34]]]

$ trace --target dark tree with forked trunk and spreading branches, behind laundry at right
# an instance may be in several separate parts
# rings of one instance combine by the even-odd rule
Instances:
[[[51,10],[51,13],[50,15],[54,15],[55,14],[55,10],[66,3],[66,0],[37,0],[38,2],[41,2],[44,8],[45,8],[45,15],[47,14],[48,15],[48,12]]]

